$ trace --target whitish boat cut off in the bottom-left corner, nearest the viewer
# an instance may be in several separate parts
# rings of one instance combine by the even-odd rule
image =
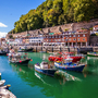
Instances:
[[[10,90],[1,88],[0,89],[0,98],[16,98],[14,94],[12,94]]]

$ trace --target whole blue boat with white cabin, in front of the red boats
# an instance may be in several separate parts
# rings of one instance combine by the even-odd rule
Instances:
[[[85,68],[85,64],[82,63],[72,63],[72,59],[63,59],[63,61],[57,61],[54,62],[54,66],[61,70],[70,70],[70,71],[77,71],[82,72]]]

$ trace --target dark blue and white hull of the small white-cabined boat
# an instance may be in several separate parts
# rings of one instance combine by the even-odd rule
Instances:
[[[36,65],[35,65],[35,71],[37,71],[37,72],[39,72],[39,73],[42,73],[42,74],[46,74],[46,75],[49,75],[49,76],[54,76],[54,73],[56,73],[56,69],[54,70],[42,70],[42,69],[38,69],[38,68],[36,68]]]

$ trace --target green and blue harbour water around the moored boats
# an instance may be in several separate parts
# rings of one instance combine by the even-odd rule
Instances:
[[[27,66],[10,64],[8,57],[0,56],[1,79],[11,84],[10,90],[17,98],[97,98],[98,58],[86,57],[84,73],[66,73],[75,79],[50,77],[35,72],[34,64],[48,60],[48,53],[28,53],[33,59]]]

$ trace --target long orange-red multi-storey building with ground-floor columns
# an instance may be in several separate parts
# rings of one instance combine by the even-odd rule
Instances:
[[[79,29],[76,32],[48,33],[44,35],[44,45],[88,46],[89,30]]]

